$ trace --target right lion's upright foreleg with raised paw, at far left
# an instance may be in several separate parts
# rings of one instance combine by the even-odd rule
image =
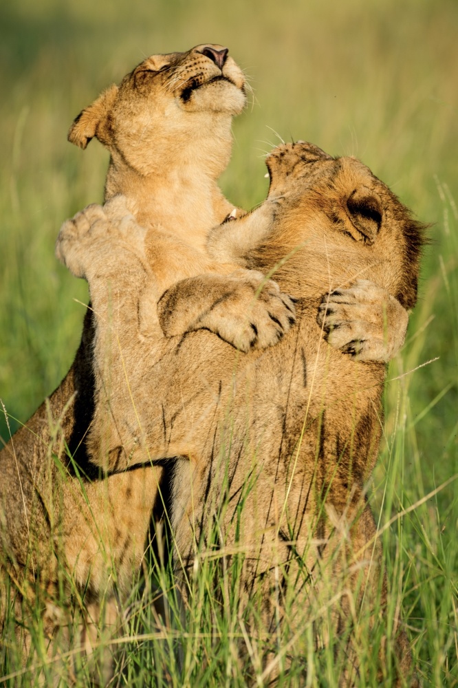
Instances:
[[[161,358],[175,345],[160,330],[144,233],[118,197],[67,220],[56,243],[58,258],[89,284],[94,413],[85,444],[91,462],[109,472],[187,454],[186,444],[164,436],[154,396]]]

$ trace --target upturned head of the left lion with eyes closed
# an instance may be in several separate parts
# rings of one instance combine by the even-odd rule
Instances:
[[[85,148],[98,138],[135,171],[155,171],[189,142],[218,135],[246,104],[245,78],[227,48],[197,45],[188,52],[153,55],[84,109],[69,141]]]

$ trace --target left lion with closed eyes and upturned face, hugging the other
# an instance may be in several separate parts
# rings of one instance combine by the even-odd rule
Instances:
[[[232,83],[219,78],[212,80],[214,76],[221,76],[221,70],[214,59],[204,54],[208,49],[210,53],[223,50],[217,45],[198,46],[185,54],[149,58],[124,78],[120,87],[110,87],[94,105],[83,111],[69,133],[69,139],[83,148],[94,136],[109,147],[111,161],[106,197],[110,199],[120,193],[127,199],[121,202],[114,198],[111,211],[114,215],[119,214],[120,206],[127,202],[135,219],[149,228],[142,269],[148,271],[152,265],[155,272],[154,279],[151,279],[151,270],[148,272],[146,298],[142,299],[140,310],[140,321],[146,327],[146,332],[142,332],[142,336],[146,336],[145,341],[151,330],[157,335],[156,302],[164,289],[177,279],[197,272],[210,270],[224,276],[234,268],[233,264],[227,265],[230,263],[227,259],[226,266],[215,268],[215,263],[221,263],[217,255],[209,267],[205,242],[210,228],[233,211],[232,204],[224,199],[217,186],[217,178],[230,157],[230,120],[240,111],[245,100],[243,76],[228,58],[223,72],[226,70]],[[173,266],[179,266],[179,270],[169,272],[170,265],[163,270],[164,247],[168,250],[173,246],[176,250],[177,239],[181,241],[179,261],[175,261]],[[135,241],[135,237],[126,235],[124,247],[135,248]],[[161,249],[160,261],[157,261],[158,246]],[[72,263],[70,255],[67,259]],[[120,275],[119,270],[120,266],[114,266],[109,276],[113,278],[111,284],[108,283],[110,279],[105,279],[105,290],[107,286],[110,290],[106,303],[111,303],[115,309],[120,293],[116,286],[118,278],[127,279],[129,275],[128,270],[124,275]],[[176,324],[175,319],[175,329],[172,328],[168,334],[175,334],[176,327],[179,332],[205,327],[239,344],[241,349],[264,347],[276,342],[279,333],[287,331],[291,324],[289,316],[286,316],[286,304],[284,301],[279,303],[279,290],[273,283],[264,287],[261,299],[254,299],[263,282],[261,275],[251,272],[249,276],[245,266],[241,270],[243,275],[227,277],[232,311],[229,308],[221,312],[212,309],[206,320],[205,305],[209,294],[218,293],[223,285],[221,279],[215,277],[212,282],[212,290],[215,291],[209,291],[208,282],[204,281],[199,295],[201,302],[193,304],[192,312],[186,312],[181,325]],[[78,268],[75,272],[78,273]],[[137,283],[136,277],[133,281]],[[199,282],[196,285],[199,286]],[[139,297],[140,292],[145,296],[142,289]],[[226,291],[223,292],[225,297]],[[194,301],[196,293],[193,291]],[[127,309],[129,299],[130,296],[126,301]],[[384,297],[382,301],[378,298],[379,308],[382,308],[383,300]],[[166,299],[162,301],[164,308],[167,303],[169,305],[170,302]],[[243,310],[245,307],[241,304],[247,303],[249,308]],[[282,313],[281,319],[276,318],[280,325],[268,317],[273,303]],[[371,310],[367,309],[368,312]],[[248,311],[255,314],[255,322],[261,325],[257,327],[259,338],[253,337],[252,330],[250,334],[250,328],[246,327],[250,319],[241,317]],[[405,324],[406,313],[403,309],[400,312]],[[110,313],[112,317],[113,312]],[[122,315],[132,317],[135,331],[139,312],[135,310],[128,314],[123,306]],[[230,327],[226,330],[228,321]],[[364,318],[362,323],[360,329],[364,330]],[[165,320],[162,324],[166,327]],[[380,328],[383,330],[380,319],[378,324],[380,332]],[[40,407],[0,455],[3,475],[0,488],[3,556],[0,563],[13,581],[12,596],[16,601],[17,615],[21,616],[24,611],[27,616],[27,605],[30,603],[33,607],[36,604],[38,592],[39,603],[50,609],[46,617],[50,635],[60,623],[52,611],[58,588],[57,560],[59,566],[67,569],[76,590],[85,591],[85,599],[80,600],[83,609],[88,601],[92,603],[100,599],[101,594],[107,594],[111,599],[115,589],[121,597],[127,594],[131,588],[132,572],[138,568],[142,557],[157,483],[162,475],[159,467],[144,466],[137,471],[118,473],[107,480],[104,471],[94,468],[94,463],[105,456],[105,449],[113,444],[113,418],[110,415],[107,438],[100,431],[100,423],[95,424],[96,429],[92,429],[88,436],[94,403],[99,413],[105,416],[103,402],[110,400],[110,389],[114,387],[109,384],[103,392],[104,398],[95,396],[94,380],[100,381],[104,374],[109,353],[105,350],[93,367],[92,328],[89,311],[69,374],[49,402]],[[399,331],[401,336],[397,334]],[[265,336],[261,337],[261,332]],[[391,342],[393,337],[397,344],[402,343],[402,327],[397,323],[393,334],[388,330],[385,339]],[[351,333],[347,343],[349,341],[352,341]],[[162,341],[162,345],[166,343]],[[115,342],[111,354],[119,361],[117,346]],[[387,351],[384,352],[385,357]],[[138,360],[138,374],[142,367],[142,361]],[[124,424],[123,421],[123,427]],[[135,442],[140,442],[137,437],[138,418],[130,427],[135,428]],[[124,430],[121,429],[121,433]],[[114,445],[114,455],[117,455],[118,447],[124,447],[124,443],[114,442]],[[91,455],[94,451],[96,456]],[[23,603],[25,610],[21,611]],[[6,604],[3,584],[0,604],[1,625]]]

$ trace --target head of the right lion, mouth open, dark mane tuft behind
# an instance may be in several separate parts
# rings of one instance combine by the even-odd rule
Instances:
[[[369,279],[413,307],[423,226],[367,166],[304,142],[279,146],[266,163],[278,206],[272,248],[303,245],[297,259],[311,289]]]

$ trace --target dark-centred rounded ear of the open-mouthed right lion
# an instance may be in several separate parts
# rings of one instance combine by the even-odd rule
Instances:
[[[382,204],[368,186],[355,189],[347,198],[347,230],[357,241],[373,244],[382,224]],[[349,226],[351,225],[351,226]]]

